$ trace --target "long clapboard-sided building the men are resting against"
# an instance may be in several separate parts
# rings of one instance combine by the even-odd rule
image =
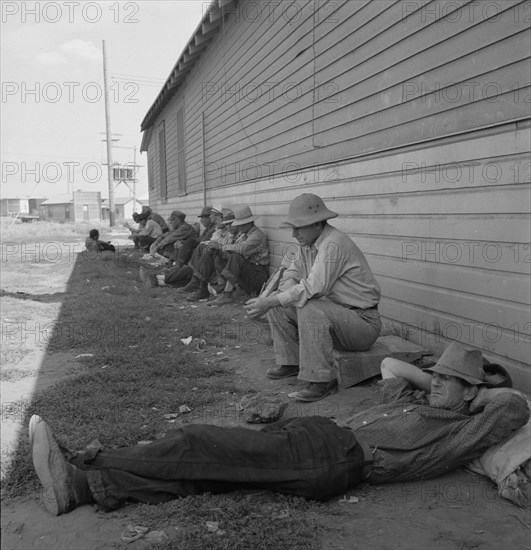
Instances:
[[[308,191],[387,327],[530,387],[529,2],[215,0],[142,122],[163,216],[245,203],[278,265]]]

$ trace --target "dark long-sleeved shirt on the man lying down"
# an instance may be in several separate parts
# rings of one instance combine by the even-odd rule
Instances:
[[[526,400],[496,396],[482,412],[432,407],[402,378],[380,382],[384,404],[346,421],[373,449],[371,483],[429,479],[455,470],[509,437],[529,419]]]

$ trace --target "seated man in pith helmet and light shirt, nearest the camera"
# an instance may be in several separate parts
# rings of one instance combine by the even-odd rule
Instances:
[[[268,312],[278,365],[269,378],[298,376],[307,386],[292,397],[318,401],[337,391],[334,347],[368,350],[380,335],[380,287],[352,239],[328,224],[338,214],[317,195],[295,197],[288,219],[299,250],[290,260],[280,288],[249,300],[251,317]]]

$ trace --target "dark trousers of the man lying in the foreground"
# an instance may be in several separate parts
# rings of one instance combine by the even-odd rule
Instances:
[[[190,424],[149,445],[74,459],[100,506],[149,504],[204,492],[268,489],[326,500],[361,481],[354,433],[327,418],[283,420],[260,431]]]

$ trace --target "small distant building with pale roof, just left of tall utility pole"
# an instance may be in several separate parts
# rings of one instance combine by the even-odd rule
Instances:
[[[40,214],[47,221],[101,221],[101,202],[99,191],[78,190],[45,200],[40,205]]]

